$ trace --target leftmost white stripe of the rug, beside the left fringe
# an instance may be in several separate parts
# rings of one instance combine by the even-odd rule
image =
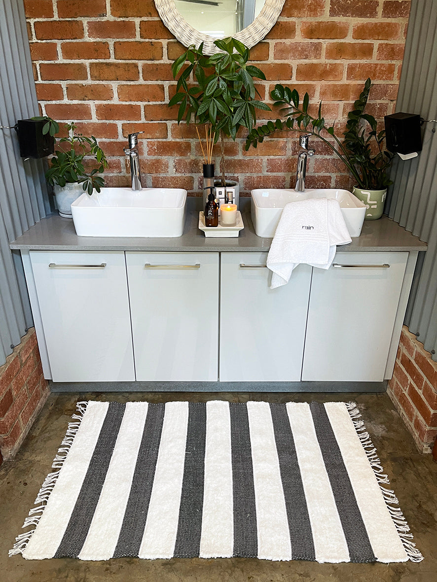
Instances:
[[[42,560],[55,555],[82,487],[108,406],[108,402],[88,403],[56,487],[48,498],[37,529],[23,551],[24,558]]]

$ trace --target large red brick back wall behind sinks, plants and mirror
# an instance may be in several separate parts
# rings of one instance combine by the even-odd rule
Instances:
[[[107,185],[126,186],[126,135],[140,140],[143,185],[199,190],[202,155],[193,127],[175,122],[171,63],[183,51],[159,19],[153,0],[24,0],[37,95],[42,111],[77,120],[101,140],[110,158]],[[365,79],[375,83],[368,111],[382,119],[394,111],[410,0],[286,0],[251,61],[266,74],[259,83],[269,100],[275,83],[323,100],[323,113],[344,126]],[[270,115],[270,114],[269,114]],[[276,118],[277,112],[270,117]],[[343,123],[341,123],[343,122]],[[253,187],[290,186],[297,141],[267,139],[244,151],[244,137],[227,144],[227,175],[246,194]],[[351,187],[329,148],[314,140],[309,186]],[[218,147],[216,173],[218,174]]]

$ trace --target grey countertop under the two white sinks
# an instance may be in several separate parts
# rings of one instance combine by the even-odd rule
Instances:
[[[58,213],[43,218],[36,225],[10,243],[11,249],[27,250],[130,250],[130,251],[233,251],[267,252],[272,239],[256,236],[253,229],[250,201],[241,200],[244,229],[235,238],[206,238],[199,230],[198,198],[188,198],[184,233],[177,238],[109,238],[77,236],[72,219],[61,218]],[[383,216],[376,221],[364,221],[361,236],[350,244],[339,247],[341,251],[425,251],[422,242],[404,228]]]

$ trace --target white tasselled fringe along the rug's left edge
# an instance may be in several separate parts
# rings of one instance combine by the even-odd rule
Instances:
[[[13,548],[9,550],[9,558],[11,556],[16,556],[19,553],[23,553],[24,549],[26,549],[27,544],[29,544],[30,538],[32,537],[34,531],[36,530],[36,526],[38,525],[41,517],[44,514],[44,509],[45,506],[47,505],[48,498],[50,497],[50,494],[55,487],[55,484],[59,477],[59,472],[61,471],[62,465],[65,462],[65,459],[68,455],[71,445],[73,444],[76,432],[79,429],[80,422],[82,421],[83,415],[86,411],[87,404],[88,402],[77,402],[76,413],[73,414],[72,419],[79,422],[68,423],[68,429],[65,433],[65,437],[52,463],[52,469],[59,470],[55,471],[54,473],[49,473],[47,477],[45,477],[43,485],[41,485],[41,489],[40,491],[38,491],[37,498],[35,499],[34,502],[34,505],[36,505],[36,507],[30,510],[29,516],[26,517],[22,526],[22,528],[29,526],[35,527],[32,530],[25,531],[24,533],[17,535],[17,537],[15,538],[15,544],[13,545]]]

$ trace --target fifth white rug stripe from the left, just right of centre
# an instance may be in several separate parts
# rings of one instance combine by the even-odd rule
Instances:
[[[248,402],[258,558],[291,560],[290,533],[268,402]]]

